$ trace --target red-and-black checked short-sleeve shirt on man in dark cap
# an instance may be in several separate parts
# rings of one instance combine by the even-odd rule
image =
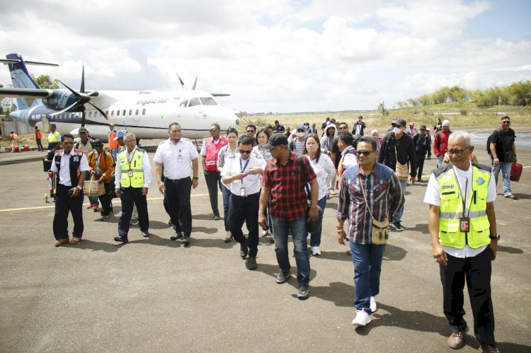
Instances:
[[[271,159],[265,166],[262,186],[270,189],[269,212],[275,218],[294,221],[306,216],[308,197],[302,175],[306,175],[307,181],[311,181],[316,178],[316,174],[308,158],[300,158],[302,166],[298,161],[299,158],[290,151],[285,166],[278,159]]]

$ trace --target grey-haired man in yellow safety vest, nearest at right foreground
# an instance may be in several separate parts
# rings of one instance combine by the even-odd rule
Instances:
[[[493,204],[496,186],[491,168],[469,161],[473,150],[467,132],[450,135],[447,154],[451,163],[432,173],[424,202],[430,205],[432,253],[440,267],[442,306],[452,330],[447,345],[452,349],[464,345],[467,279],[479,352],[498,352],[491,300],[491,261],[500,238]]]

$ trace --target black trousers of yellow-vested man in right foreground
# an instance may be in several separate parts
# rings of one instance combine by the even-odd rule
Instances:
[[[494,313],[491,300],[491,260],[489,246],[474,257],[459,258],[447,255],[446,266],[440,265],[442,306],[454,331],[467,328],[464,316],[464,280],[474,316],[474,335],[480,343],[495,345]]]

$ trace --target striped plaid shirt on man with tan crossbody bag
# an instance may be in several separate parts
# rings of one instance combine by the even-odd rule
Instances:
[[[363,175],[358,165],[345,170],[341,177],[336,217],[348,219],[347,234],[350,241],[370,244],[372,218],[367,211],[360,181],[372,216],[377,221],[384,221],[391,214],[396,214],[404,204],[404,195],[396,174],[383,164],[376,163],[369,175]]]

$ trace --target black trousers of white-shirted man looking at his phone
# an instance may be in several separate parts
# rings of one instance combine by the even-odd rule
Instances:
[[[244,221],[249,231],[249,256],[256,257],[258,254],[258,207],[260,204],[260,192],[247,197],[237,196],[231,193],[229,200],[230,231],[234,239],[245,243],[244,233],[241,227]]]

